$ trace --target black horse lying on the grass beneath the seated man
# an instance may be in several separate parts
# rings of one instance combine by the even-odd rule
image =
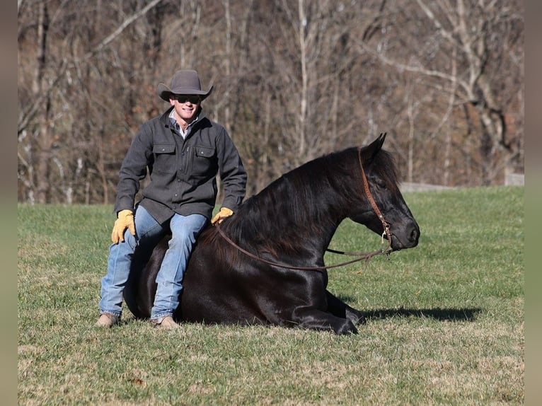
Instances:
[[[326,286],[324,253],[343,219],[383,234],[384,226],[364,191],[390,228],[392,250],[413,248],[420,228],[401,195],[391,155],[382,150],[385,135],[362,149],[349,148],[305,163],[247,199],[225,219],[221,231],[209,226],[200,235],[183,280],[174,318],[188,322],[264,324],[357,332],[362,312],[343,303]],[[125,301],[138,318],[148,318],[156,292],[156,274],[168,237],[137,259],[125,289]],[[289,265],[292,268],[283,267]],[[315,269],[295,269],[313,267]]]

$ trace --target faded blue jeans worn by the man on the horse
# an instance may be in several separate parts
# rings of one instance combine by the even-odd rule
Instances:
[[[110,245],[108,273],[102,278],[100,313],[122,314],[122,291],[128,280],[130,264],[137,245],[152,247],[164,236],[167,229],[159,224],[142,206],[134,216],[136,236],[127,229],[125,241]],[[174,214],[169,221],[171,240],[162,265],[156,276],[156,296],[151,309],[151,319],[173,315],[179,306],[185,273],[192,247],[207,218],[201,214],[181,216]]]

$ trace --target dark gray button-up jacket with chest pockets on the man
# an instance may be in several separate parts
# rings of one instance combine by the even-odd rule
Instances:
[[[151,182],[139,202],[156,221],[174,213],[207,218],[217,199],[217,174],[224,185],[223,207],[236,211],[246,192],[246,171],[226,129],[200,111],[186,139],[171,125],[169,108],[145,122],[122,162],[115,212],[134,209],[139,182],[149,170]]]

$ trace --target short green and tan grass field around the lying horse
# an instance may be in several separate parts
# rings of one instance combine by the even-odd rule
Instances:
[[[524,188],[405,194],[420,245],[330,269],[358,335],[93,327],[110,207],[18,206],[20,405],[521,405]],[[330,248],[374,250],[345,221]],[[328,254],[331,265],[345,260]],[[277,286],[280,289],[280,286]]]

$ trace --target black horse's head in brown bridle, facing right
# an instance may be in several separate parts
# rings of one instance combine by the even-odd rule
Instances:
[[[388,224],[392,250],[413,248],[420,238],[420,227],[399,190],[393,158],[382,149],[385,139],[386,134],[381,134],[359,150],[359,165],[362,166],[359,168],[359,183],[362,192],[359,204],[353,205],[352,213],[348,216],[381,235],[385,233],[384,225]],[[367,187],[364,187],[363,171]],[[371,199],[378,209],[371,204]],[[381,212],[382,218],[379,218],[377,211]]]

